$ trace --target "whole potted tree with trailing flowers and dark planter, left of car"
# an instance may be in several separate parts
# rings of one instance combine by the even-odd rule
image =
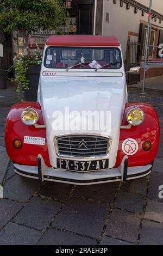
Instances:
[[[63,0],[5,0],[0,3],[0,28],[5,32],[20,32],[26,48],[22,56],[14,58],[17,92],[26,101],[36,101],[41,56],[30,53],[29,35],[39,29],[61,33],[60,27],[67,17]]]

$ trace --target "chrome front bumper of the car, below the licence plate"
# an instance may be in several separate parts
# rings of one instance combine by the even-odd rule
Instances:
[[[146,166],[127,167],[125,164],[126,161],[127,160],[124,159],[121,166],[118,168],[87,173],[72,172],[68,170],[55,169],[53,167],[46,167],[44,170],[40,170],[41,168],[39,168],[39,164],[37,167],[14,163],[14,169],[17,174],[29,178],[74,185],[91,185],[113,181],[126,181],[141,178],[151,173],[152,164],[147,164]]]

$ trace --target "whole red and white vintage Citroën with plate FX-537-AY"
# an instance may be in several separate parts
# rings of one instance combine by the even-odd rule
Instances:
[[[139,67],[132,71],[139,72]],[[90,130],[97,118],[88,119],[86,129],[70,127],[74,113],[76,126],[85,124],[83,112],[110,113],[110,129]],[[80,185],[148,175],[159,135],[154,108],[128,103],[120,42],[101,35],[50,36],[37,102],[16,103],[5,126],[7,152],[17,174]]]

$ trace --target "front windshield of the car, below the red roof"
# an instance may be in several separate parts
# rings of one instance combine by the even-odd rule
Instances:
[[[120,69],[121,52],[116,47],[48,47],[44,65],[50,69]]]

